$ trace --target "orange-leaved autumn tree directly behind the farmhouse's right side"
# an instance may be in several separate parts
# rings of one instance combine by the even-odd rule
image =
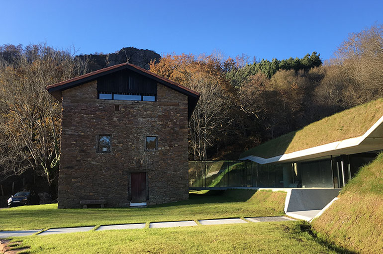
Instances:
[[[207,150],[216,144],[232,121],[229,117],[231,87],[225,78],[224,65],[213,56],[167,55],[150,70],[200,93],[190,125],[190,156],[206,160]]]

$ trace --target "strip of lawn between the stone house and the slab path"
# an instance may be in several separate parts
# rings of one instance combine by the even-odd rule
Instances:
[[[284,214],[286,193],[255,190],[196,192],[190,199],[147,208],[57,209],[57,204],[0,210],[0,230],[182,221]]]

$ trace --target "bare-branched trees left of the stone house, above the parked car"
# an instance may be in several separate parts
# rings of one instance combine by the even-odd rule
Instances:
[[[18,50],[0,59],[1,170],[4,175],[11,168],[18,170],[13,173],[30,168],[50,185],[60,161],[61,106],[45,87],[79,75],[83,66],[70,52],[45,44]]]

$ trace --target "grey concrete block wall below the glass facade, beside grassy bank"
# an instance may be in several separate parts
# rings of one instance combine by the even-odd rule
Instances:
[[[307,210],[322,210],[341,189],[291,189],[287,192],[285,213]]]

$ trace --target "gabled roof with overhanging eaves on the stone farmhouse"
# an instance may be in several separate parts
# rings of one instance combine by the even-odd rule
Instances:
[[[91,81],[96,80],[99,77],[115,73],[124,69],[128,69],[130,71],[133,71],[135,73],[141,74],[149,79],[152,79],[162,85],[165,85],[171,89],[174,89],[178,92],[181,92],[188,96],[188,106],[189,106],[189,115],[191,115],[191,112],[194,110],[195,105],[198,102],[199,93],[196,91],[193,91],[185,86],[182,86],[180,84],[177,84],[171,80],[165,79],[164,77],[161,77],[155,73],[152,73],[148,70],[145,70],[141,67],[124,63],[119,65],[110,66],[104,69],[100,69],[91,73],[87,73],[85,75],[81,75],[79,77],[62,81],[53,85],[48,85],[46,89],[49,93],[51,93],[57,100],[61,101],[61,91],[82,85]]]

